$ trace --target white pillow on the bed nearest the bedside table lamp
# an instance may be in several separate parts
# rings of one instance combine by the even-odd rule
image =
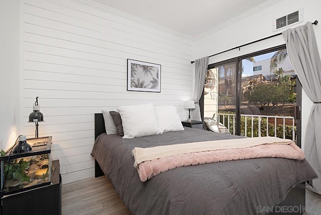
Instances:
[[[155,106],[155,112],[163,133],[184,130],[176,106]]]

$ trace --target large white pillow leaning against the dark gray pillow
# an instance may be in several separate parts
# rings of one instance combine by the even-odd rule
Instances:
[[[141,104],[119,106],[117,110],[120,114],[125,139],[143,137],[155,134],[162,134],[158,125],[154,105]]]

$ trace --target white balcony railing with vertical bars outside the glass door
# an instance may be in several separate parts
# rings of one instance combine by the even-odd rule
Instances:
[[[216,116],[217,121],[235,135],[235,114],[219,113]],[[294,117],[241,114],[241,135],[245,137],[274,136],[295,141],[295,133]]]

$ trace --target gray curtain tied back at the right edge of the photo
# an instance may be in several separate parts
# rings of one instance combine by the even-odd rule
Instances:
[[[282,32],[290,62],[307,96],[313,101],[304,138],[306,160],[318,175],[312,191],[321,194],[321,60],[312,23]]]

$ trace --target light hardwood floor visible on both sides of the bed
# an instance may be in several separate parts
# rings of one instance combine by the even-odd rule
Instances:
[[[303,215],[321,214],[321,195],[306,190]],[[105,176],[87,178],[62,186],[62,214],[130,214]]]

